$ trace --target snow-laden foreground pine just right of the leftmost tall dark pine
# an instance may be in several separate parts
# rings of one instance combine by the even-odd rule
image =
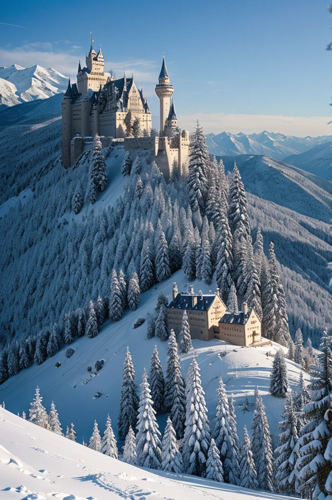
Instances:
[[[161,434],[155,418],[153,401],[145,370],[142,379],[136,425],[137,464],[140,467],[158,470],[161,467]]]

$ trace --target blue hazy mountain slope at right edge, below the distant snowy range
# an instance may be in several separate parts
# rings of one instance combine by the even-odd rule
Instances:
[[[332,180],[332,142],[319,144],[300,154],[286,156],[284,162]]]

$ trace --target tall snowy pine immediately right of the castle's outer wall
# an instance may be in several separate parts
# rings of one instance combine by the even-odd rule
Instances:
[[[208,189],[209,156],[203,129],[197,124],[190,142],[188,163],[188,186],[190,205],[193,211],[205,210]]]

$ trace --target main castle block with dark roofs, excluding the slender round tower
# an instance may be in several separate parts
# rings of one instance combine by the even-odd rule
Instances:
[[[132,120],[139,118],[141,133],[150,134],[152,118],[141,88],[137,88],[133,75],[115,79],[104,72],[101,47],[98,53],[90,50],[85,58],[86,66],[78,63],[77,83],[68,83],[64,94],[62,114],[62,162],[67,168],[83,151],[82,140],[75,137],[91,137],[96,133],[105,137],[125,137],[124,124],[127,112]]]

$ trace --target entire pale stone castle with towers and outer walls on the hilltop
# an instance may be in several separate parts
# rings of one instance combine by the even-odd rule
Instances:
[[[93,40],[85,67],[78,63],[77,83],[70,84],[64,94],[62,111],[62,162],[67,168],[84,150],[84,144],[91,143],[96,133],[103,145],[112,138],[123,138],[125,149],[149,149],[155,161],[168,179],[173,168],[180,174],[187,168],[189,132],[178,128],[174,102],[174,92],[170,84],[165,59],[155,92],[160,100],[159,135],[151,133],[152,119],[147,100],[141,88],[137,88],[133,75],[114,78],[104,72],[104,57],[101,47],[98,53],[93,49]],[[128,114],[129,113],[129,114]],[[136,119],[139,132],[127,136],[128,121]],[[138,135],[138,136],[137,136]]]

